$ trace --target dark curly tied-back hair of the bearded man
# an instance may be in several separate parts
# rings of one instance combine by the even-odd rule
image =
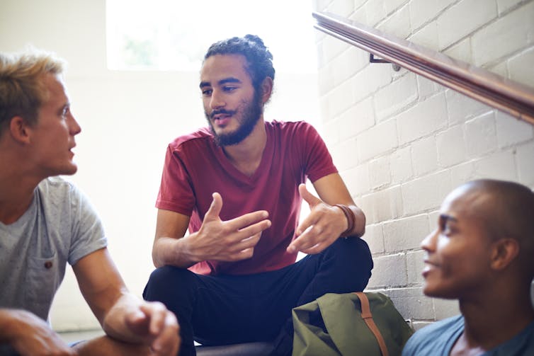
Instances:
[[[259,90],[263,79],[271,77],[274,81],[273,54],[263,40],[256,35],[232,37],[220,40],[210,46],[204,60],[215,54],[242,54],[246,58],[246,71],[251,76],[252,85]]]

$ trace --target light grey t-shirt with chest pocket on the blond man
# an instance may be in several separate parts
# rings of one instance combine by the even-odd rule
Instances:
[[[62,178],[42,180],[23,216],[0,222],[0,307],[47,320],[67,262],[74,265],[106,245],[89,200]]]

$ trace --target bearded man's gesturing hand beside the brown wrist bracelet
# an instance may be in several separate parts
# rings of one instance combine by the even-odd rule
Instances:
[[[319,253],[330,246],[347,229],[345,214],[338,207],[326,204],[306,189],[305,184],[299,185],[299,193],[308,205],[309,215],[299,226],[288,252]]]

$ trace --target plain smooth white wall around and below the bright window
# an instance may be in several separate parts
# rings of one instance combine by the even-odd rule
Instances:
[[[215,33],[213,42],[220,39]],[[154,202],[166,145],[205,125],[198,72],[108,71],[105,0],[2,0],[0,51],[27,44],[69,62],[66,82],[82,127],[74,149],[79,171],[71,179],[95,205],[115,263],[141,295],[153,268]],[[317,124],[316,77],[277,76],[266,120]],[[97,327],[68,271],[52,325],[60,331]]]

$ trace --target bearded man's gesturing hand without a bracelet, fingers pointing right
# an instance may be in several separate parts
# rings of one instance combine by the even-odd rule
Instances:
[[[259,210],[222,221],[219,217],[222,197],[219,193],[213,193],[212,196],[210,209],[204,216],[198,234],[191,241],[193,254],[199,256],[199,260],[236,261],[251,258],[261,231],[271,226],[271,221],[267,219],[268,212]]]

